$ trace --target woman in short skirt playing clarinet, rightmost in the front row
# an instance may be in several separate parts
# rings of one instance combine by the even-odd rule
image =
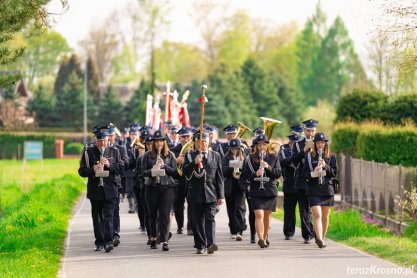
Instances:
[[[332,179],[337,175],[336,155],[330,153],[328,140],[322,132],[314,136],[314,148],[305,156],[303,167],[307,180],[306,196],[313,213],[316,244],[326,247],[324,239],[329,225],[330,208],[334,206]]]

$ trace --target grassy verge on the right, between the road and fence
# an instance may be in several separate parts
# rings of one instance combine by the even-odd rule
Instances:
[[[274,217],[283,220],[283,211],[277,210]],[[298,218],[297,211],[296,225],[300,227]],[[406,267],[417,265],[415,238],[396,236],[378,225],[365,223],[362,215],[354,210],[340,212],[332,210],[327,237]]]

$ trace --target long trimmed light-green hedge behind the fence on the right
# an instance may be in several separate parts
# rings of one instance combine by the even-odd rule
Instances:
[[[332,150],[368,161],[417,166],[417,128],[342,123],[332,134]]]

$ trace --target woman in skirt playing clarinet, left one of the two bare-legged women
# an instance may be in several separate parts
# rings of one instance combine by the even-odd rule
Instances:
[[[249,184],[249,195],[255,212],[255,227],[258,245],[268,247],[266,243],[271,213],[277,206],[277,179],[281,176],[279,159],[268,153],[269,140],[264,134],[256,138],[256,146],[243,164],[240,182]]]

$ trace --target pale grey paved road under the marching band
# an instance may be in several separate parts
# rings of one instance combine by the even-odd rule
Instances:
[[[161,246],[158,250],[150,250],[146,245],[146,235],[138,230],[136,214],[127,213],[127,202],[121,203],[121,244],[110,253],[95,252],[90,202],[84,199],[76,209],[59,273],[64,278],[335,278],[359,276],[366,271],[369,274],[367,277],[401,276],[378,275],[378,271],[386,273],[399,266],[330,240],[324,249],[319,249],[314,243],[303,244],[299,229],[291,241],[286,241],[283,239],[282,222],[278,220],[272,222],[271,246],[267,249],[250,244],[248,234],[244,235],[241,242],[232,240],[228,233],[224,205],[216,216],[219,251],[213,255],[196,255],[193,237],[175,233],[174,217],[171,218],[171,250],[163,252]],[[401,269],[405,271],[404,268]]]

